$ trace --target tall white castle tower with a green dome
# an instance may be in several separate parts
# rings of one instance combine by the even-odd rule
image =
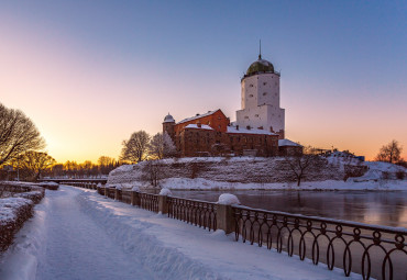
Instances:
[[[258,59],[241,80],[242,109],[237,111],[235,124],[241,127],[263,128],[284,138],[285,111],[279,108],[279,72],[267,60]]]

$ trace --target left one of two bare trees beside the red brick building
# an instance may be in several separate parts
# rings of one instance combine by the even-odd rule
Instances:
[[[146,158],[150,135],[145,131],[134,132],[129,141],[123,141],[120,159],[139,163]]]

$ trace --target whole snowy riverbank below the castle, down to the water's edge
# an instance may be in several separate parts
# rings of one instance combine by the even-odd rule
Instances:
[[[348,178],[346,164],[366,171]],[[163,159],[121,166],[110,172],[108,184],[146,189],[152,188],[154,177],[156,189],[172,190],[407,190],[404,167],[378,161],[346,164],[341,158],[328,158],[323,168],[306,170],[297,186],[286,160],[278,157]]]

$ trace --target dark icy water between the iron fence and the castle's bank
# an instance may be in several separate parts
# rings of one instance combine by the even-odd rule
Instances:
[[[217,201],[235,194],[243,205],[407,228],[407,191],[172,191],[175,197]]]

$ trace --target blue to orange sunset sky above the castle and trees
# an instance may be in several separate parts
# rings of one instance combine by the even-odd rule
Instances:
[[[57,161],[118,158],[131,133],[240,110],[262,56],[280,76],[286,137],[407,159],[406,1],[1,1],[0,102]]]

